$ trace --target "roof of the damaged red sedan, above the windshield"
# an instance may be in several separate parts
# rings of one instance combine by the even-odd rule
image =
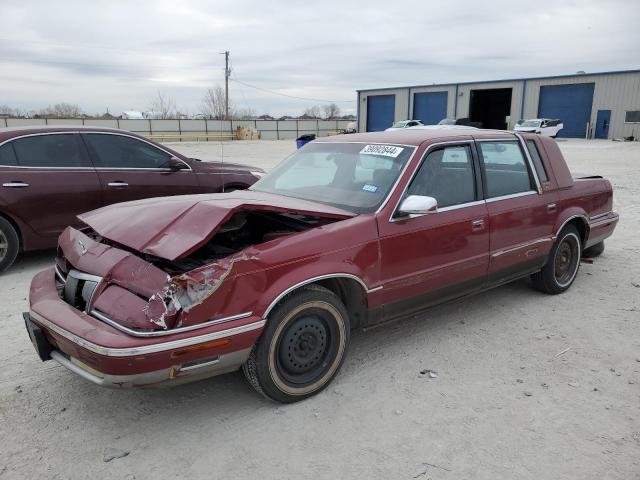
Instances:
[[[482,130],[459,128],[405,128],[402,130],[390,130],[385,132],[351,133],[320,137],[315,142],[349,142],[349,143],[387,143],[399,145],[418,146],[423,142],[434,140],[468,140],[469,138],[516,138],[513,132],[506,130]]]

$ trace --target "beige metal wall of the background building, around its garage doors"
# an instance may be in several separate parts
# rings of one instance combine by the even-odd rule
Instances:
[[[511,126],[513,126],[520,118],[535,118],[538,115],[541,86],[574,83],[595,83],[590,120],[591,136],[595,131],[598,110],[611,110],[609,138],[621,138],[629,135],[640,137],[640,123],[624,123],[627,110],[640,110],[640,72],[637,71],[466,83],[458,84],[457,88],[455,84],[449,84],[365,90],[359,92],[358,128],[361,132],[366,131],[366,97],[370,95],[395,95],[395,121],[398,121],[411,118],[414,93],[446,91],[448,92],[447,116],[467,117],[469,116],[471,90],[511,88]]]

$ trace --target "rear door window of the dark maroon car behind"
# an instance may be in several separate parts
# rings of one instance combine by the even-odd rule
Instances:
[[[13,140],[21,167],[85,167],[75,134],[34,135]]]

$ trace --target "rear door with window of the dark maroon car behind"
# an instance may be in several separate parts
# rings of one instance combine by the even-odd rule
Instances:
[[[77,133],[27,135],[0,150],[0,202],[37,235],[53,242],[100,206],[100,181]]]

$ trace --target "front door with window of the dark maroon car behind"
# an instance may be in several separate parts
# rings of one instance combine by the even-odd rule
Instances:
[[[191,167],[170,168],[171,153],[142,139],[115,133],[83,133],[102,184],[106,205],[168,195],[200,193]]]

